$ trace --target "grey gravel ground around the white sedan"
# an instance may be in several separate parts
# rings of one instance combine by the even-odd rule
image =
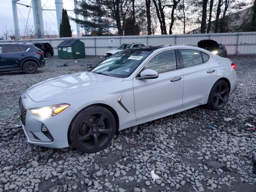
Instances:
[[[223,110],[201,106],[123,130],[96,154],[28,144],[19,127],[18,98],[33,84],[88,70],[100,58],[52,58],[33,75],[1,73],[0,192],[255,192],[256,131],[245,124],[256,125],[256,58],[232,60],[237,90]],[[63,64],[68,66],[57,67]]]

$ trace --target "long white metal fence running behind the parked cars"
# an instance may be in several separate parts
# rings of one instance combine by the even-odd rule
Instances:
[[[54,55],[58,55],[57,46],[69,38],[30,39],[24,42],[48,42],[54,47]],[[147,45],[192,45],[203,39],[212,39],[224,44],[228,54],[256,54],[256,32],[241,33],[211,33],[211,34],[178,34],[178,35],[140,35],[140,36],[100,36],[81,37],[85,44],[85,54],[88,56],[102,56],[108,50],[115,49],[122,43],[145,43]],[[0,43],[14,42],[0,40]]]

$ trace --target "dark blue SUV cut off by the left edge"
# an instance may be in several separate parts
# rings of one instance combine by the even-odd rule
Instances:
[[[34,74],[44,66],[44,53],[34,45],[0,44],[0,72],[23,70]]]

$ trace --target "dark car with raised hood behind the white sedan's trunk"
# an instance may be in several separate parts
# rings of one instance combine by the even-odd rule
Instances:
[[[221,57],[227,57],[227,50],[223,44],[218,44],[214,40],[206,39],[198,42],[198,47],[206,49],[213,54],[217,54]]]

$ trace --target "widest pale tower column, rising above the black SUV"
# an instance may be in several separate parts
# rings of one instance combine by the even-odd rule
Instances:
[[[41,0],[32,0],[36,38],[44,38],[44,22]]]

